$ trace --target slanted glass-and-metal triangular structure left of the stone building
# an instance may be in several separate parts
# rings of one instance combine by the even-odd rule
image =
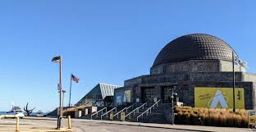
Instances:
[[[89,105],[94,107],[103,107],[103,100],[107,97],[113,97],[114,89],[120,87],[121,86],[112,84],[99,83],[94,87],[94,89],[91,89],[84,98],[81,98],[80,101],[75,104],[75,106]]]

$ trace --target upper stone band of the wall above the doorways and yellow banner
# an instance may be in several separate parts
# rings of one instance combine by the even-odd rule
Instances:
[[[248,76],[244,72],[235,72],[235,81],[249,81],[249,79],[254,80],[254,78],[256,80],[256,75]],[[233,72],[176,72],[162,75],[144,75],[131,80],[126,80],[125,86],[183,81],[233,81]]]

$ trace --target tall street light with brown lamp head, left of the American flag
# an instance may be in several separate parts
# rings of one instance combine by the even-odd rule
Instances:
[[[60,66],[60,80],[59,80],[59,84],[57,84],[57,89],[60,93],[60,107],[59,107],[59,113],[58,113],[58,117],[57,117],[57,129],[61,128],[62,125],[62,56],[58,56],[58,57],[53,57],[53,62],[57,62],[59,63]]]

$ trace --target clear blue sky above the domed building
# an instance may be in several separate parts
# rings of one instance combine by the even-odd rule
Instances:
[[[58,105],[58,66],[72,103],[99,82],[123,85],[149,74],[158,52],[184,34],[213,34],[256,72],[256,1],[1,1],[0,111],[14,102],[48,112]],[[67,94],[66,94],[67,95]],[[67,96],[66,96],[67,97]],[[68,99],[65,99],[67,105]]]

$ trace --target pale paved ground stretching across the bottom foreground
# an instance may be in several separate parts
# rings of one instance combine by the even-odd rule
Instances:
[[[15,119],[1,119],[0,131],[15,131]],[[56,127],[55,118],[37,118],[29,117],[21,119],[20,130],[53,130]],[[63,120],[63,127],[66,126],[66,119]],[[138,122],[121,122],[121,121],[91,121],[83,119],[72,119],[72,129],[75,132],[186,132],[186,131],[231,131],[231,132],[248,132],[252,131],[246,128],[228,128],[212,127],[198,125],[167,125],[167,124],[150,124]]]

